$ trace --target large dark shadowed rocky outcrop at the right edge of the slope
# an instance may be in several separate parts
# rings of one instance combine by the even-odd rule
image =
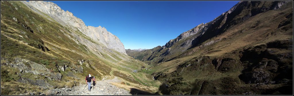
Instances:
[[[278,49],[278,50],[277,50]],[[241,61],[246,68],[239,78],[245,83],[278,83],[283,78],[292,77],[287,74],[293,72],[288,61],[293,53],[280,53],[279,51],[293,49],[293,40],[273,41],[244,50]],[[293,52],[293,51],[292,51]],[[276,78],[273,78],[276,77]]]

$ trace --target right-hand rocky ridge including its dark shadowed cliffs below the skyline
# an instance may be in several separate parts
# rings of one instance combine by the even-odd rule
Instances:
[[[184,51],[201,45],[201,43],[205,42],[208,39],[211,39],[214,36],[221,34],[225,30],[232,27],[233,25],[246,20],[256,15],[257,13],[265,12],[267,10],[277,10],[286,2],[287,1],[281,1],[281,2],[277,1],[275,2],[275,4],[271,5],[269,8],[264,8],[264,9],[255,8],[250,13],[240,13],[242,9],[240,9],[240,7],[237,8],[237,6],[239,6],[240,3],[244,3],[243,1],[240,1],[235,6],[230,8],[230,10],[228,10],[225,13],[222,13],[220,16],[218,16],[211,22],[208,22],[205,24],[204,23],[199,24],[193,29],[183,32],[177,38],[171,39],[170,41],[168,41],[164,46],[157,46],[153,49],[144,50],[139,53],[132,54],[130,56],[134,58],[140,57],[140,60],[145,61],[148,64],[156,64],[163,61],[169,61],[169,60],[175,59],[175,57],[178,55],[183,56],[182,53]],[[241,6],[244,6],[244,5],[241,5]],[[255,7],[259,7],[259,6],[255,5]],[[235,10],[237,11],[235,12]],[[247,15],[243,16],[243,14],[247,14]],[[233,20],[233,19],[238,19],[238,20]],[[222,38],[217,40],[211,40],[210,41],[211,43],[203,44],[203,46],[213,44],[217,41],[220,41],[221,39]]]

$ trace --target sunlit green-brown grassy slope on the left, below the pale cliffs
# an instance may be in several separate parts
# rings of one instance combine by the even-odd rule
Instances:
[[[78,39],[102,50],[93,52]],[[142,66],[149,67],[46,14],[35,13],[20,1],[1,1],[1,95],[72,87],[88,74],[97,79],[118,76],[133,88],[156,91],[159,81],[133,73]]]

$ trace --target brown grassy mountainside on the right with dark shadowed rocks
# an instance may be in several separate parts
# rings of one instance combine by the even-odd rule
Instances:
[[[170,49],[158,46],[145,50],[148,55],[136,54],[147,56],[143,61],[154,66],[141,72],[164,82],[159,92],[293,94],[293,1],[241,1],[207,24],[204,33],[181,39]],[[191,47],[172,52],[191,39]]]

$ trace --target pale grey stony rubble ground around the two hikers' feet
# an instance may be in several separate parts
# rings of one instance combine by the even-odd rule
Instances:
[[[121,82],[121,80],[115,77],[109,80],[96,81],[94,87],[93,84],[91,85],[91,91],[88,91],[88,85],[85,88],[86,84],[80,84],[73,88],[57,88],[51,90],[48,95],[131,95],[129,91],[111,85],[111,82]]]

